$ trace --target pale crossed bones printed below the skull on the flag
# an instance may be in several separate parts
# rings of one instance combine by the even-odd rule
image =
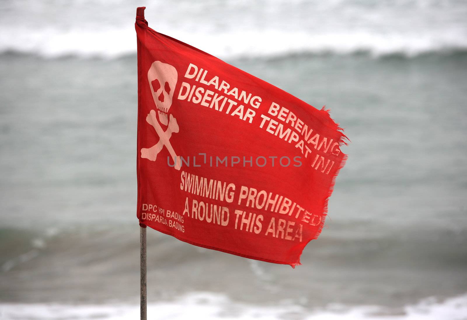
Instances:
[[[157,142],[155,145],[153,145],[151,148],[142,148],[141,149],[141,157],[149,159],[151,161],[156,161],[156,157],[161,152],[162,148],[165,146],[167,150],[170,153],[170,156],[172,156],[172,160],[175,163],[175,169],[180,170],[181,167],[181,162],[180,162],[180,156],[177,156],[175,154],[174,149],[172,148],[172,145],[170,144],[170,137],[172,136],[172,133],[177,133],[178,132],[178,123],[177,119],[175,119],[171,114],[169,117],[169,124],[167,126],[167,130],[163,131],[161,128],[161,125],[157,121],[156,118],[156,111],[151,110],[146,117],[146,121],[154,127],[154,130],[156,130],[157,135],[159,135],[159,142]]]

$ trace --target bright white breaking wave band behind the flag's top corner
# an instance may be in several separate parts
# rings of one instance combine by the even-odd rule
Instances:
[[[302,31],[251,30],[236,32],[170,34],[181,41],[220,58],[277,57],[290,54],[354,54],[373,57],[401,55],[417,57],[426,53],[467,51],[467,36],[455,34],[377,34],[372,32],[333,32],[310,34]],[[54,28],[0,31],[0,54],[21,53],[45,58],[119,58],[134,55],[133,29],[101,30]]]

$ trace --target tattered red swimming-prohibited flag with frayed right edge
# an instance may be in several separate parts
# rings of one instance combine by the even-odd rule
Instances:
[[[328,114],[148,27],[137,9],[137,217],[200,247],[300,264],[346,155]]]

